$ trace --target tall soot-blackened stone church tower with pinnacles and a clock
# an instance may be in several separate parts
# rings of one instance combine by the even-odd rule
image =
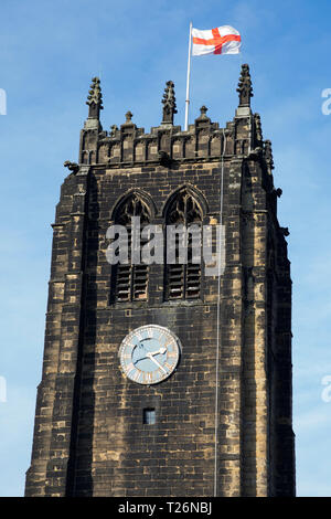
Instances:
[[[108,133],[93,78],[52,224],[26,496],[295,495],[288,230],[248,65],[237,92],[224,128],[205,106],[175,126],[168,82],[159,126],[128,112]],[[170,225],[200,245],[183,231],[171,248]],[[116,240],[127,261],[109,261]]]

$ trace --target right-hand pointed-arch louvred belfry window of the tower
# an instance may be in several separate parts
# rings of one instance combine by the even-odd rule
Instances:
[[[179,232],[175,234],[172,246],[174,247],[175,263],[170,264],[166,260],[164,271],[164,295],[166,299],[196,299],[201,295],[201,232],[202,232],[202,210],[185,188],[181,189],[172,198],[167,213],[167,256],[169,253],[169,225],[175,225],[177,229],[185,229],[186,237]],[[200,230],[197,240],[196,234],[190,232],[190,227]],[[185,260],[183,261],[180,251],[181,245],[185,248]],[[200,254],[199,263],[194,257]]]

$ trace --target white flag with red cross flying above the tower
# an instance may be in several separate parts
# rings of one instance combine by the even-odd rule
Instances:
[[[218,27],[209,31],[192,28],[192,55],[204,54],[238,54],[241,34],[229,25]]]

